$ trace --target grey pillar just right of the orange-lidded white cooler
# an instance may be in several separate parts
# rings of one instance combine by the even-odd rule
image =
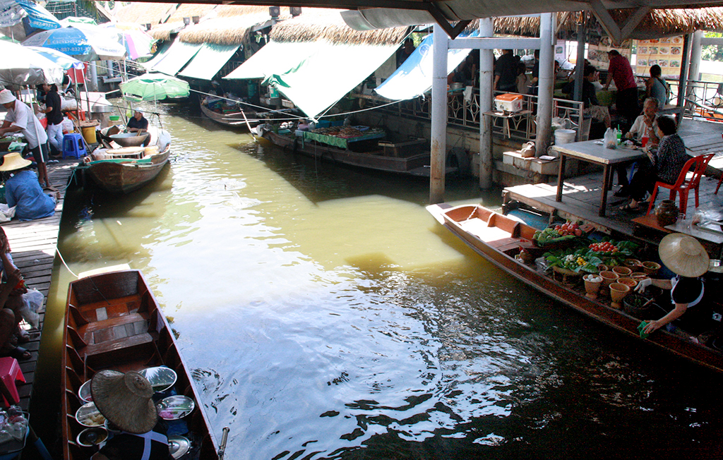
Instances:
[[[552,90],[555,84],[555,13],[540,14],[540,76],[537,91],[536,155],[547,155],[552,136]]]

